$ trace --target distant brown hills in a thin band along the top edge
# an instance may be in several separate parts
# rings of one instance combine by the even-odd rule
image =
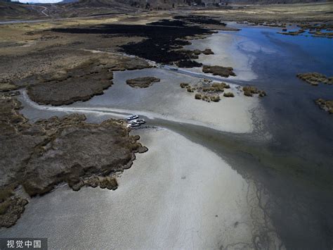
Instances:
[[[318,0],[64,0],[58,4],[20,4],[0,0],[0,19],[18,20],[45,18],[68,18],[111,13],[131,13],[138,10],[177,10],[197,6],[221,6],[233,4],[294,4],[317,2]],[[329,0],[331,1],[331,0]],[[218,5],[219,4],[219,5]],[[41,8],[44,6],[45,8]],[[191,7],[190,7],[191,6]],[[45,15],[44,13],[47,13]]]

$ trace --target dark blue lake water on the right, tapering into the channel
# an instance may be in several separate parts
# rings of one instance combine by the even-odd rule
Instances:
[[[273,139],[256,144],[254,139],[216,136],[207,130],[189,137],[206,138],[207,146],[227,157],[243,177],[254,178],[263,194],[269,193],[263,207],[287,249],[332,249],[333,116],[314,100],[333,99],[333,86],[314,87],[296,74],[332,76],[333,39],[277,31],[242,27],[235,34],[275,51],[244,50],[256,56],[252,70],[259,77],[250,83],[268,93],[261,100],[266,118],[256,137],[269,131]]]

